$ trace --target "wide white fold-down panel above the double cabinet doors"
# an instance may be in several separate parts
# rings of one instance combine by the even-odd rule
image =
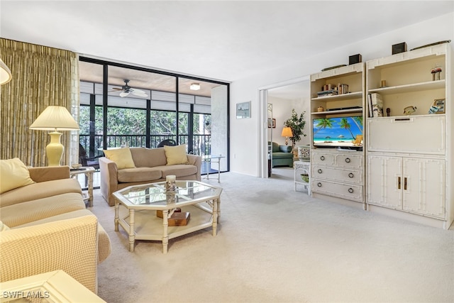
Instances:
[[[445,153],[445,116],[400,116],[369,119],[369,151]]]

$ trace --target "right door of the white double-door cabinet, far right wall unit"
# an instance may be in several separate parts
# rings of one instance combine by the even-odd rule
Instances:
[[[404,158],[403,209],[445,216],[445,161]]]

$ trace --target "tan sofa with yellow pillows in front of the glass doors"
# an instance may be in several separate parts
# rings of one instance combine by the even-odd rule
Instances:
[[[110,206],[112,195],[119,189],[135,185],[165,181],[168,175],[177,180],[201,180],[201,156],[187,155],[188,164],[166,165],[164,148],[131,148],[134,168],[117,169],[116,162],[106,157],[99,158],[101,171],[101,194]]]

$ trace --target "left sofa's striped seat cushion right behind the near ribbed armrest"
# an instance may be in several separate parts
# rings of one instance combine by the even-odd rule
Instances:
[[[1,207],[0,220],[10,228],[40,219],[85,209],[81,194],[70,192]]]

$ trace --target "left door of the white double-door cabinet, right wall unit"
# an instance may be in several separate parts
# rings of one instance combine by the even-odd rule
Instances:
[[[367,203],[402,209],[402,158],[367,156]]]

